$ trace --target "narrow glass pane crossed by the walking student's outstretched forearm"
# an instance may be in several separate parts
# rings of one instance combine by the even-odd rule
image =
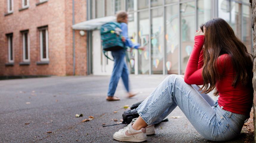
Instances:
[[[132,42],[135,42],[135,39],[137,38],[136,35],[136,24],[135,24],[135,15],[129,14],[129,22],[128,22],[128,37],[132,40]],[[134,74],[134,65],[135,65],[135,49],[132,50],[132,52],[127,52],[127,65],[129,68],[130,73]]]

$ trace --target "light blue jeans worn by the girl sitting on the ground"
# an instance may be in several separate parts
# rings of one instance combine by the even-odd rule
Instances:
[[[169,75],[137,108],[149,125],[159,123],[179,106],[196,131],[211,141],[234,139],[242,130],[248,115],[221,109],[218,101],[200,88],[184,82],[178,75]]]

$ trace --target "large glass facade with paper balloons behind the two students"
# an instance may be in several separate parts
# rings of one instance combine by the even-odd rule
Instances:
[[[90,4],[92,19],[129,12],[129,38],[146,47],[127,52],[132,74],[184,74],[195,31],[213,17],[226,20],[252,53],[248,0],[91,0]]]

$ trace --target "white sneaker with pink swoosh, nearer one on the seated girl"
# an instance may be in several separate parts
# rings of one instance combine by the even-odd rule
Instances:
[[[133,123],[132,123],[133,124]],[[127,127],[124,127],[123,130],[115,132],[113,138],[118,141],[126,142],[143,142],[147,140],[146,128],[141,128],[138,131],[135,131],[132,128],[132,124],[129,124]]]

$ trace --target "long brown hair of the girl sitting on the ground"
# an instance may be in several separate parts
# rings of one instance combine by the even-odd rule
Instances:
[[[252,86],[252,54],[247,52],[246,46],[235,35],[230,25],[221,18],[213,18],[200,27],[203,26],[206,28],[202,71],[204,84],[200,90],[209,93],[215,89],[214,95],[219,94],[215,87],[223,74],[219,74],[217,64],[223,54],[228,54],[225,60],[229,58],[234,69],[232,86]],[[224,68],[223,71],[225,70],[229,69]]]

